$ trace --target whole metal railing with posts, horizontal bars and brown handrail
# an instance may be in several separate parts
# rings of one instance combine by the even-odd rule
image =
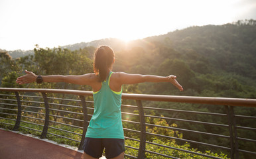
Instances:
[[[90,123],[90,117],[92,117],[94,111],[92,91],[0,88],[0,92],[1,125],[13,125],[11,126],[13,127],[13,131],[18,131],[19,129],[36,131],[40,133],[40,138],[50,138],[50,136],[66,138],[72,142],[79,143],[78,148],[79,150],[82,150],[86,130]],[[56,95],[58,97],[56,97]],[[60,97],[60,95],[62,97]],[[86,98],[88,100],[86,100]],[[153,138],[164,138],[162,140],[166,140],[166,142],[175,141],[176,144],[180,145],[190,143],[198,148],[207,147],[208,150],[213,149],[218,152],[228,152],[230,158],[239,158],[239,155],[256,155],[256,150],[244,150],[242,148],[245,142],[255,146],[255,125],[251,127],[237,124],[244,119],[255,122],[255,114],[236,115],[234,111],[237,107],[243,107],[245,109],[252,109],[251,112],[255,112],[256,99],[139,95],[126,93],[123,93],[122,99],[124,101],[123,103],[126,103],[121,105],[125,143],[127,141],[135,143],[129,144],[131,142],[128,142],[129,145],[125,145],[127,149],[131,150],[131,152],[129,151],[129,153],[125,154],[127,158],[147,158],[147,155],[150,154],[163,158],[177,158],[170,153],[164,153],[170,151],[184,152],[204,156],[206,158],[220,158],[204,152],[192,150],[191,148],[181,148],[172,146],[171,144],[160,144]],[[143,107],[143,102],[149,106]],[[166,103],[167,105],[175,105],[174,107],[177,107],[177,103],[179,105],[182,105],[182,103],[183,105],[184,103],[190,103],[191,105],[191,103],[193,103],[194,105],[201,105],[201,108],[210,105],[211,109],[216,108],[217,111],[209,112],[194,111],[190,109],[170,109],[171,106],[169,108],[163,108],[159,106],[161,105],[159,102],[164,103],[165,105]],[[157,105],[157,107],[154,105]],[[17,107],[17,109],[14,107]],[[186,107],[186,104],[184,107]],[[220,111],[219,109],[223,109],[223,111]],[[164,117],[162,114],[167,114],[168,117]],[[193,117],[193,119],[188,119],[190,116]],[[224,122],[216,123],[208,120],[215,118],[221,118]],[[12,121],[13,124],[3,122],[3,120]],[[152,123],[154,120],[155,123]],[[165,124],[161,124],[161,122],[165,122]],[[21,123],[24,123],[24,125],[21,125]],[[181,125],[189,124],[198,127],[202,125],[201,127],[207,127],[208,129],[215,131],[208,132],[192,130],[186,127],[172,127],[170,126],[172,123],[183,123]],[[25,126],[26,124],[40,127],[41,130]],[[72,127],[78,131],[70,131],[56,127],[56,125]],[[48,129],[50,129],[50,131]],[[160,132],[159,130],[163,130],[164,132]],[[220,130],[223,133],[220,133]],[[56,131],[72,134],[76,136],[76,138],[74,139],[64,136],[61,133],[53,133]],[[194,134],[193,136],[199,135],[200,138],[204,139],[200,140],[200,138],[196,137],[196,139],[182,138],[179,136],[180,134]],[[240,134],[245,134],[245,136],[239,136]],[[247,134],[253,134],[254,136]],[[184,137],[186,136],[184,135]],[[205,138],[214,138],[214,140],[213,142],[206,142],[207,140]],[[241,145],[240,142],[242,143]],[[150,149],[149,147],[153,148]]]

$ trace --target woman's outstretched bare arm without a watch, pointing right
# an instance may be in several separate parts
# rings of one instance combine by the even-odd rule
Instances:
[[[182,86],[176,81],[176,76],[155,76],[155,75],[141,75],[141,74],[126,74],[118,73],[118,81],[122,84],[134,84],[143,82],[170,82],[176,86],[180,91],[183,91]]]

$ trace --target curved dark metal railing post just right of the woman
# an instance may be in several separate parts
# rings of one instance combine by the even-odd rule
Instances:
[[[141,136],[140,136],[141,142],[139,143],[138,158],[143,159],[145,158],[145,149],[146,149],[146,123],[145,123],[145,116],[144,116],[144,111],[142,107],[142,102],[141,100],[137,100],[136,102],[139,110],[139,120],[141,122]]]

